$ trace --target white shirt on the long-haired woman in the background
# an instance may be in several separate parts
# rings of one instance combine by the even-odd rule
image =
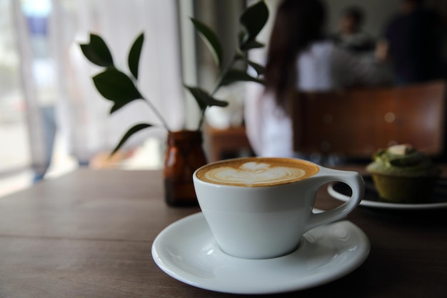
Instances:
[[[391,81],[391,72],[372,55],[353,55],[330,41],[316,42],[297,59],[296,86],[301,91],[328,91],[354,84]],[[276,106],[274,94],[263,93],[246,101],[246,130],[256,155],[293,157],[291,119]]]

